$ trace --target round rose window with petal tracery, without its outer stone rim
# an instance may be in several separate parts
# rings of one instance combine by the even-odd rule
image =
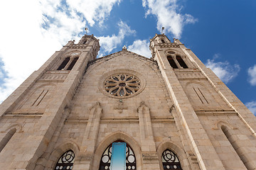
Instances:
[[[139,78],[133,74],[113,74],[104,81],[107,93],[117,97],[135,94],[140,87]]]

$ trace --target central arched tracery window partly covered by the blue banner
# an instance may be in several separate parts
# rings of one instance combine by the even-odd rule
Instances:
[[[123,141],[117,140],[115,142],[123,142]],[[105,149],[105,151],[103,152],[102,157],[100,159],[100,169],[99,170],[110,170],[113,143],[110,144],[107,147],[107,149]],[[126,157],[125,157],[126,170],[137,169],[136,157],[135,157],[134,151],[132,150],[132,147],[130,147],[128,144],[126,144],[126,153],[125,154],[126,154]]]

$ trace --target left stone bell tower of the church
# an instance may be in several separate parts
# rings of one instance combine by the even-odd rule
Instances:
[[[67,117],[82,74],[99,50],[93,35],[84,35],[78,44],[69,41],[1,104],[1,167],[38,169],[47,163],[61,129],[58,122]]]

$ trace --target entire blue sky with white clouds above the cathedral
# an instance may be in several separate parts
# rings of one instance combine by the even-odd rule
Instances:
[[[0,2],[0,102],[68,40],[100,39],[98,57],[150,57],[149,38],[178,38],[256,114],[255,0],[9,0]]]

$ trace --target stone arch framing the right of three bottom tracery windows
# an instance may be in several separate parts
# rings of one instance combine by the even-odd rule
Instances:
[[[186,153],[181,147],[178,147],[178,145],[175,145],[173,142],[161,142],[159,147],[157,147],[157,156],[159,157],[159,164],[160,169],[163,170],[163,164],[161,160],[162,153],[166,150],[170,149],[172,152],[176,154],[176,156],[179,159],[179,162],[181,163],[181,167],[183,170],[191,170],[191,167],[189,166],[188,157],[186,157]]]

